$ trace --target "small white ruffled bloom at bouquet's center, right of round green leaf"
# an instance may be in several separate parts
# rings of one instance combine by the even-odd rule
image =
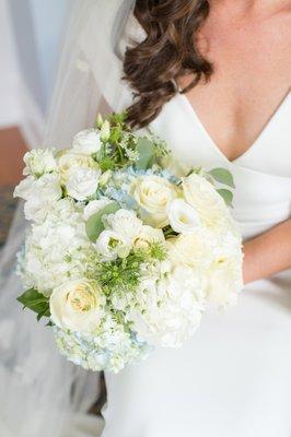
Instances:
[[[133,211],[120,209],[106,217],[108,226],[131,245],[141,232],[142,222]]]

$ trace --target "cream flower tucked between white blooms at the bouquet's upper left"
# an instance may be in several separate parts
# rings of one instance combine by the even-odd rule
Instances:
[[[66,182],[70,177],[70,174],[74,168],[98,168],[97,163],[85,153],[80,153],[74,150],[63,151],[59,154],[58,158],[58,169],[61,176],[61,180]]]

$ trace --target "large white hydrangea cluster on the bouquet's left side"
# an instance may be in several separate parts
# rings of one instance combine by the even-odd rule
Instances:
[[[27,287],[48,295],[83,275],[92,248],[82,213],[72,201],[62,199],[54,203],[44,223],[32,226],[21,269]]]

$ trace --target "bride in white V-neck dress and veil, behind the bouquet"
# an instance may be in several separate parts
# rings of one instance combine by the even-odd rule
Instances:
[[[245,253],[237,307],[207,315],[181,350],[105,375],[103,437],[291,436],[290,47],[290,0],[77,10],[45,146],[128,108],[181,162],[232,172]]]

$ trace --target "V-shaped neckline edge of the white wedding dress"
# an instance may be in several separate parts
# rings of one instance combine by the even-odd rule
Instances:
[[[205,137],[208,138],[208,141],[211,143],[212,147],[217,151],[217,153],[229,164],[235,164],[236,162],[241,161],[243,157],[245,157],[246,155],[248,155],[251,152],[253,152],[256,149],[256,146],[259,144],[261,138],[266,134],[267,130],[269,130],[273,126],[276,119],[278,119],[279,113],[281,113],[281,110],[287,106],[287,103],[289,102],[291,93],[290,93],[290,91],[287,93],[287,95],[283,97],[283,99],[280,102],[280,104],[277,106],[276,110],[270,116],[270,118],[267,120],[267,122],[265,123],[265,126],[263,127],[263,129],[260,130],[260,132],[258,133],[256,139],[253,141],[253,143],[241,155],[238,155],[234,160],[229,160],[229,157],[218,146],[216,141],[212,139],[212,137],[206,129],[206,127],[205,127],[203,122],[201,121],[200,117],[198,116],[197,111],[190,104],[188,97],[185,94],[181,94],[181,93],[177,94],[177,96],[185,104],[186,109],[189,111],[191,117],[196,120],[201,132],[203,133]]]

